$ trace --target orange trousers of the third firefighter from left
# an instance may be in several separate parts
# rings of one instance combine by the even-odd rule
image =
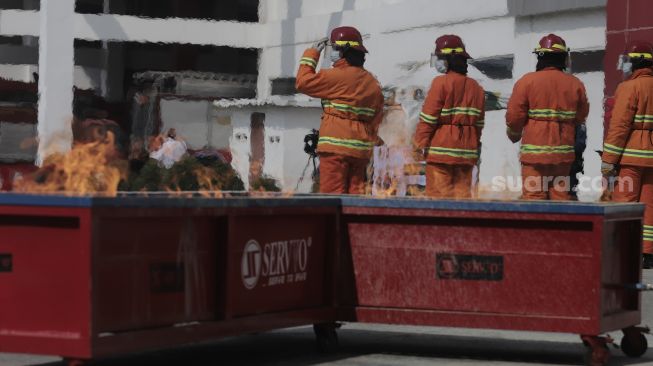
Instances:
[[[522,164],[522,199],[568,201],[571,164]]]

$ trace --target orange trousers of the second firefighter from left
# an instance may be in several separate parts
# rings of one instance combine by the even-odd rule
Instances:
[[[433,198],[471,198],[473,165],[426,165],[426,195]]]

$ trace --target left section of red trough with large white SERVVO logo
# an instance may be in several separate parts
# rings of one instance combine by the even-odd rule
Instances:
[[[0,202],[0,351],[91,359],[335,320],[336,199]]]

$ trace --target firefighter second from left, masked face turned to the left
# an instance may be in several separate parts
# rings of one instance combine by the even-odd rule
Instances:
[[[433,79],[413,137],[415,160],[426,159],[426,195],[470,198],[472,172],[479,159],[485,92],[467,77],[471,57],[456,35],[435,41]]]

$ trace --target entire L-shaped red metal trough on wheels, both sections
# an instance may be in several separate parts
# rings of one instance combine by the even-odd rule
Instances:
[[[642,214],[0,195],[0,351],[90,359],[307,324],[324,348],[351,321],[576,333],[602,360],[601,334],[643,337]]]

